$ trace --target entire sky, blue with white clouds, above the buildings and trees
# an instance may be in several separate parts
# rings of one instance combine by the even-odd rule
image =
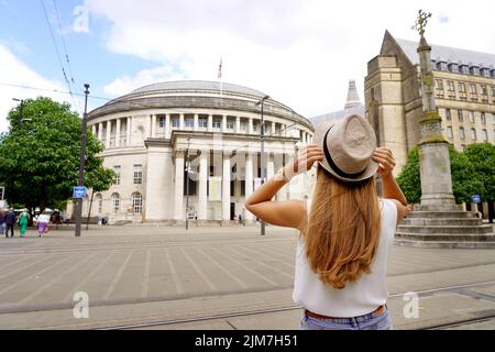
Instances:
[[[223,81],[308,118],[340,110],[349,79],[363,98],[385,30],[417,40],[419,9],[431,44],[495,53],[493,0],[0,0],[0,131],[12,98],[81,112],[85,82],[92,109],[156,81],[217,80],[220,57]]]

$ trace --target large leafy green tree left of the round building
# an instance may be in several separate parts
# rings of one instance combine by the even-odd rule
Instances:
[[[54,208],[67,201],[77,185],[81,120],[69,105],[44,97],[24,101],[22,114],[21,121],[20,107],[12,109],[10,129],[0,136],[0,179],[7,200],[29,209]],[[113,173],[102,167],[98,156],[102,150],[88,131],[86,173],[92,185]]]

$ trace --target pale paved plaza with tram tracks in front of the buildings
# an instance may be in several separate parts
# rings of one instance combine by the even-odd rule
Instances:
[[[0,238],[1,329],[298,329],[297,232],[267,227],[91,227]],[[395,329],[494,329],[495,250],[394,246]],[[76,319],[75,293],[89,298]],[[419,295],[405,317],[405,293]]]

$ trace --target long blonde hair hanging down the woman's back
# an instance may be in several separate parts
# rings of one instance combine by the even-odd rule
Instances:
[[[381,212],[374,177],[342,183],[318,167],[306,255],[320,280],[343,288],[370,266],[378,245]]]

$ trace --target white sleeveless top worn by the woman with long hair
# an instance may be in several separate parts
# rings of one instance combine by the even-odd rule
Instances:
[[[363,273],[358,280],[348,282],[342,289],[322,283],[307,261],[306,246],[300,237],[296,251],[294,301],[312,312],[338,318],[362,316],[386,304],[386,264],[394,243],[397,206],[391,199],[381,199],[380,204],[382,227],[371,273]]]

